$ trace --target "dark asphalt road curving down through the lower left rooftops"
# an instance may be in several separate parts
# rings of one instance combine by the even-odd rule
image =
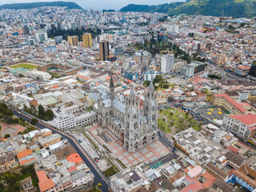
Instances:
[[[30,122],[30,118],[28,118],[26,115],[24,114],[18,114],[17,111],[13,110],[14,115],[17,117],[22,117],[26,120],[26,122]],[[82,147],[78,144],[78,142],[76,142],[74,140],[74,138],[72,138],[71,136],[69,136],[68,134],[63,133],[62,131],[59,130],[55,130],[54,128],[50,127],[50,126],[46,126],[44,124],[42,124],[42,122],[38,122],[35,126],[37,126],[39,129],[42,128],[49,128],[50,130],[52,130],[53,134],[61,134],[62,138],[66,138],[68,140],[68,142],[70,142],[71,146],[74,146],[74,149],[77,150],[78,154],[81,156],[82,160],[86,163],[86,165],[90,168],[91,172],[94,174],[94,183],[96,185],[98,185],[98,183],[101,183],[102,186],[99,186],[99,188],[105,192],[105,191],[109,191],[109,186],[108,184],[102,179],[101,175],[98,174],[97,170],[95,169],[95,165],[94,163],[90,160],[90,158],[88,157],[88,155],[85,153],[84,150],[82,150]]]

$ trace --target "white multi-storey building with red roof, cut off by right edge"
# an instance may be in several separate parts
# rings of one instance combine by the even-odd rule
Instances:
[[[248,140],[256,130],[256,114],[238,114],[224,116],[222,126],[232,134]]]

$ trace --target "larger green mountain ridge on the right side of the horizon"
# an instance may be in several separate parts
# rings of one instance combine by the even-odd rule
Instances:
[[[130,4],[120,11],[158,12],[166,14],[202,14],[218,17],[255,17],[256,0],[187,0],[158,6]]]

